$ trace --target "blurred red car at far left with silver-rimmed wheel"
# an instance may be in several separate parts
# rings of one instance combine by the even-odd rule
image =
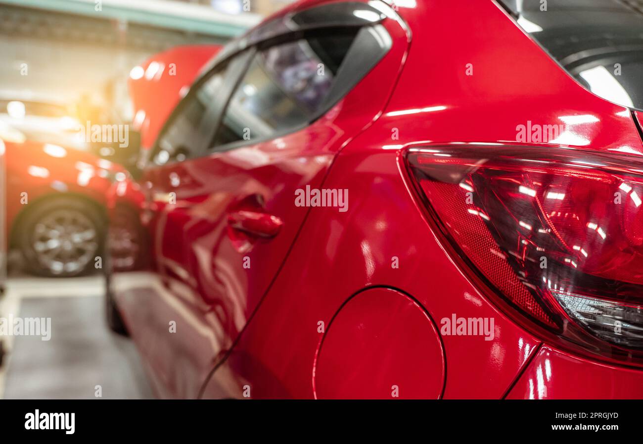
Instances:
[[[70,277],[102,266],[107,231],[105,196],[125,172],[90,153],[25,139],[5,128],[8,246],[28,271]],[[3,226],[4,227],[4,226]]]

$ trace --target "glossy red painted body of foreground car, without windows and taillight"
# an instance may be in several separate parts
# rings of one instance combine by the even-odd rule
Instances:
[[[402,20],[382,22],[390,50],[311,125],[113,189],[111,207],[136,208],[148,239],[148,268],[117,270],[111,288],[157,393],[640,398],[642,369],[550,344],[487,297],[426,217],[402,155],[515,143],[517,124],[569,115],[596,117],[570,147],[643,155],[629,109],[580,86],[493,1],[398,3]],[[347,211],[293,205],[306,185],[349,190]],[[278,234],[230,225],[242,210],[275,216]],[[440,334],[454,314],[493,318],[494,340]]]

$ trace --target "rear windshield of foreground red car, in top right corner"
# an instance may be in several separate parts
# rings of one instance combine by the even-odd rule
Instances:
[[[501,0],[585,88],[643,109],[643,4],[624,0]]]

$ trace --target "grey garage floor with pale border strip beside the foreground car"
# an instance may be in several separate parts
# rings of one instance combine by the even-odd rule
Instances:
[[[10,278],[0,316],[50,317],[51,339],[5,337],[0,398],[153,398],[129,338],[104,320],[102,277]]]

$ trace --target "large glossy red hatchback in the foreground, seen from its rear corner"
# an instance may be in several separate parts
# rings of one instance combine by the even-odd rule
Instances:
[[[643,397],[643,21],[543,5],[302,1],[204,64],[109,196],[159,396]]]

